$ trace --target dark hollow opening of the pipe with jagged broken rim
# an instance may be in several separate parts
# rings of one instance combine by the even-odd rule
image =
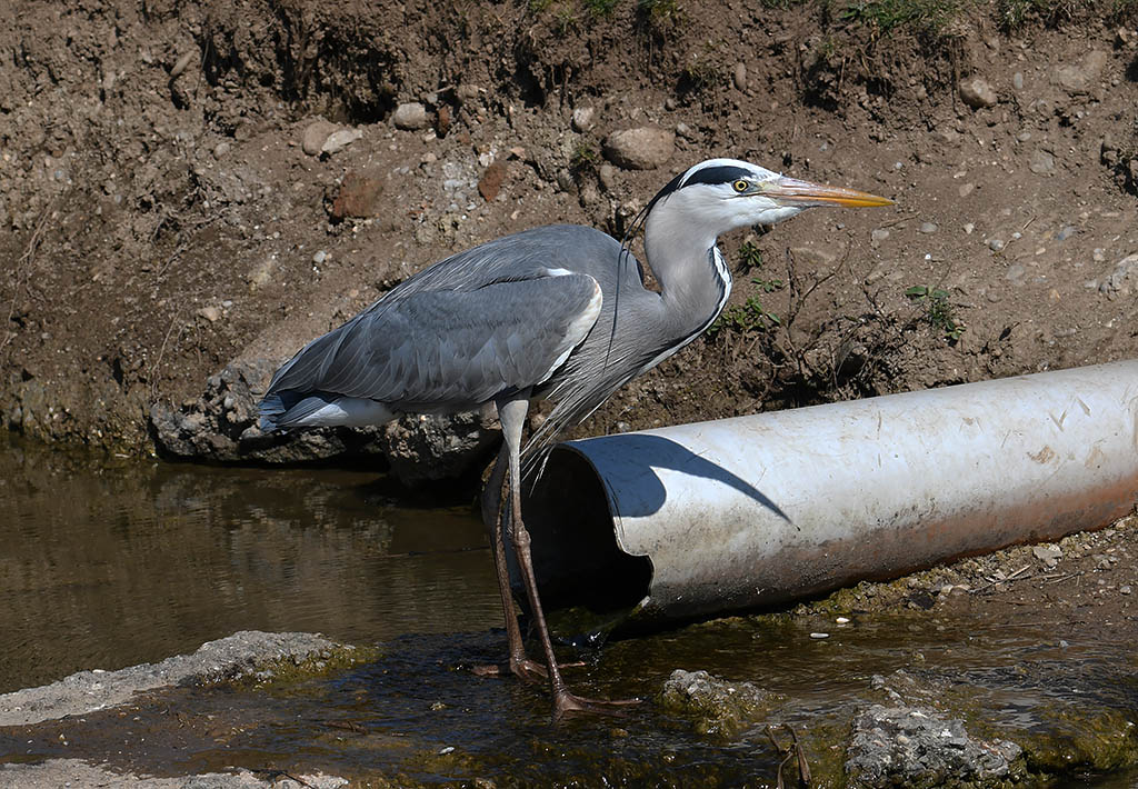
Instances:
[[[605,613],[648,595],[652,561],[620,550],[604,484],[578,452],[552,450],[522,512],[545,607]]]

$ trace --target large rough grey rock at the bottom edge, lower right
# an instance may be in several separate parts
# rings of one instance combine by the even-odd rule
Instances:
[[[1023,773],[1022,749],[968,734],[929,708],[873,705],[853,718],[846,773],[853,787],[1001,786]]]

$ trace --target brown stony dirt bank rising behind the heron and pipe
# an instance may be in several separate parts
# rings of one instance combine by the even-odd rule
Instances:
[[[229,362],[511,230],[620,233],[717,155],[897,206],[725,238],[720,330],[583,432],[1132,357],[1135,5],[1037,8],[17,2],[0,421],[150,451]],[[667,161],[607,162],[640,126]]]

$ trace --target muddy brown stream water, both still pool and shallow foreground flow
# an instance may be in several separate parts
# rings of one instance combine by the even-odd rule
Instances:
[[[825,787],[840,786],[855,712],[888,702],[873,677],[896,684],[898,671],[983,737],[1071,746],[1103,721],[1138,717],[1132,646],[1059,641],[1057,623],[1032,611],[846,624],[819,613],[724,619],[583,654],[587,665],[567,672],[575,689],[644,702],[553,726],[538,689],[468,671],[504,647],[468,509],[396,508],[368,474],[92,465],[19,446],[0,452],[0,509],[6,688],[160,659],[240,628],[380,642],[376,659],[324,676],[179,688],[127,713],[0,731],[0,761],[323,770],[360,786],[774,787],[781,757],[765,728],[786,723]],[[823,631],[830,638],[811,638]],[[698,715],[660,700],[675,668],[750,681],[781,700],[736,735],[701,734]],[[1122,789],[1138,774],[1047,786]]]

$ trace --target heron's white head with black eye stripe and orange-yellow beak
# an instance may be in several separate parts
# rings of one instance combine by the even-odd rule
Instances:
[[[884,197],[800,181],[740,159],[696,164],[653,198],[650,212],[661,202],[684,211],[691,220],[706,222],[715,235],[750,224],[774,224],[815,206],[892,204]]]

